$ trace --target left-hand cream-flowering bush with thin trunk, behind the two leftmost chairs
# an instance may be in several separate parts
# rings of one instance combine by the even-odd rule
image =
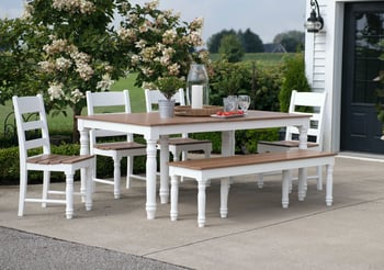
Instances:
[[[31,87],[44,93],[49,111],[72,109],[74,140],[86,91],[109,90],[127,69],[112,27],[115,1],[32,0],[25,5],[25,25],[38,25],[34,40],[23,40],[30,50],[39,52],[33,59],[38,83]]]

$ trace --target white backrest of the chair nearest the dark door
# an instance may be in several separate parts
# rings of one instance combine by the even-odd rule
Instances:
[[[297,92],[296,90],[292,91],[291,102],[290,102],[290,113],[302,113],[298,111],[298,108],[308,108],[312,110],[310,114],[310,125],[307,132],[308,140],[314,140],[314,143],[319,145],[319,148],[323,148],[323,123],[325,115],[325,105],[326,105],[326,92]],[[307,114],[307,113],[306,113]],[[285,133],[285,139],[291,140],[294,136],[298,135],[298,130],[295,126],[287,126]]]

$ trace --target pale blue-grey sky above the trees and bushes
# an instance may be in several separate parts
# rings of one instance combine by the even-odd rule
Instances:
[[[22,14],[24,0],[1,0],[0,18]],[[132,0],[145,3],[148,0]],[[180,12],[182,21],[204,18],[203,40],[222,30],[250,29],[263,43],[286,31],[304,31],[306,0],[160,0],[160,9]]]

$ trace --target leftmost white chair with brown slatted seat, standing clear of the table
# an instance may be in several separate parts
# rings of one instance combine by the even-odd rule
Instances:
[[[24,215],[25,202],[39,202],[43,207],[47,203],[65,204],[66,217],[74,216],[74,194],[81,194],[87,211],[92,207],[91,175],[94,158],[84,156],[63,156],[50,153],[47,116],[41,94],[33,97],[12,98],[14,116],[18,127],[19,154],[20,154],[20,196],[19,216]],[[35,116],[30,116],[35,114]],[[31,133],[38,134],[31,136]],[[42,154],[32,155],[30,150],[37,149]],[[74,192],[74,176],[77,170],[84,169],[86,180],[81,183],[80,192]],[[42,198],[27,196],[29,171],[43,171]],[[50,189],[50,172],[60,171],[66,176],[65,191]],[[49,194],[64,194],[65,199],[49,199]]]

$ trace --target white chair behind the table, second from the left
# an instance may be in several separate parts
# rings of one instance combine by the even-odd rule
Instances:
[[[100,109],[100,110],[99,110]],[[90,92],[87,91],[87,110],[88,115],[104,113],[131,113],[131,100],[128,90],[109,91],[109,92]],[[99,110],[99,111],[98,111]],[[123,140],[111,142],[123,137]],[[104,143],[101,140],[104,139]],[[109,142],[105,143],[105,139]],[[93,172],[93,181],[105,184],[113,184],[114,198],[118,199],[121,194],[121,160],[127,158],[126,188],[131,185],[131,178],[145,180],[146,178],[133,173],[133,161],[135,156],[146,155],[146,145],[135,143],[133,134],[112,132],[104,130],[90,131],[90,151],[98,156],[106,156],[113,159],[113,180],[101,179],[97,177],[97,170]]]

